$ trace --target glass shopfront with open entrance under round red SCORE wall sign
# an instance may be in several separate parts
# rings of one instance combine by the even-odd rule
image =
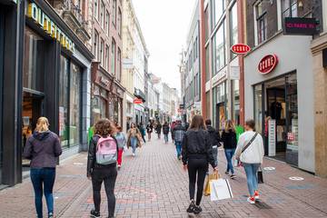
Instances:
[[[298,164],[298,101],[296,74],[253,86],[256,129],[265,137],[266,154]]]

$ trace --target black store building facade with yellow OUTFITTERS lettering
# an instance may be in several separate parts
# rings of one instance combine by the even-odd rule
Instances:
[[[61,11],[54,5],[58,2]],[[0,132],[6,134],[0,143],[0,183],[22,182],[29,167],[22,152],[40,116],[46,116],[50,129],[59,135],[61,158],[87,149],[94,56],[88,50],[87,24],[81,23],[88,15],[76,14],[72,5],[1,2],[0,44],[5,49],[0,51]]]

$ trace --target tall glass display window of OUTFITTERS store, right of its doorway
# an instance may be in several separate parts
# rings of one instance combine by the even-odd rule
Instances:
[[[59,137],[64,147],[80,144],[81,68],[61,55]]]

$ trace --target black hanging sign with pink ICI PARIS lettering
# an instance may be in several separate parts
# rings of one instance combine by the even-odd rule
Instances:
[[[317,21],[315,18],[285,17],[284,35],[316,35]]]

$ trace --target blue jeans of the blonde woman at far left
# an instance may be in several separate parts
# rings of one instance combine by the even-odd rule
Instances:
[[[31,180],[35,190],[35,208],[38,218],[43,218],[42,196],[44,192],[48,213],[54,213],[54,179],[55,168],[31,168]]]

